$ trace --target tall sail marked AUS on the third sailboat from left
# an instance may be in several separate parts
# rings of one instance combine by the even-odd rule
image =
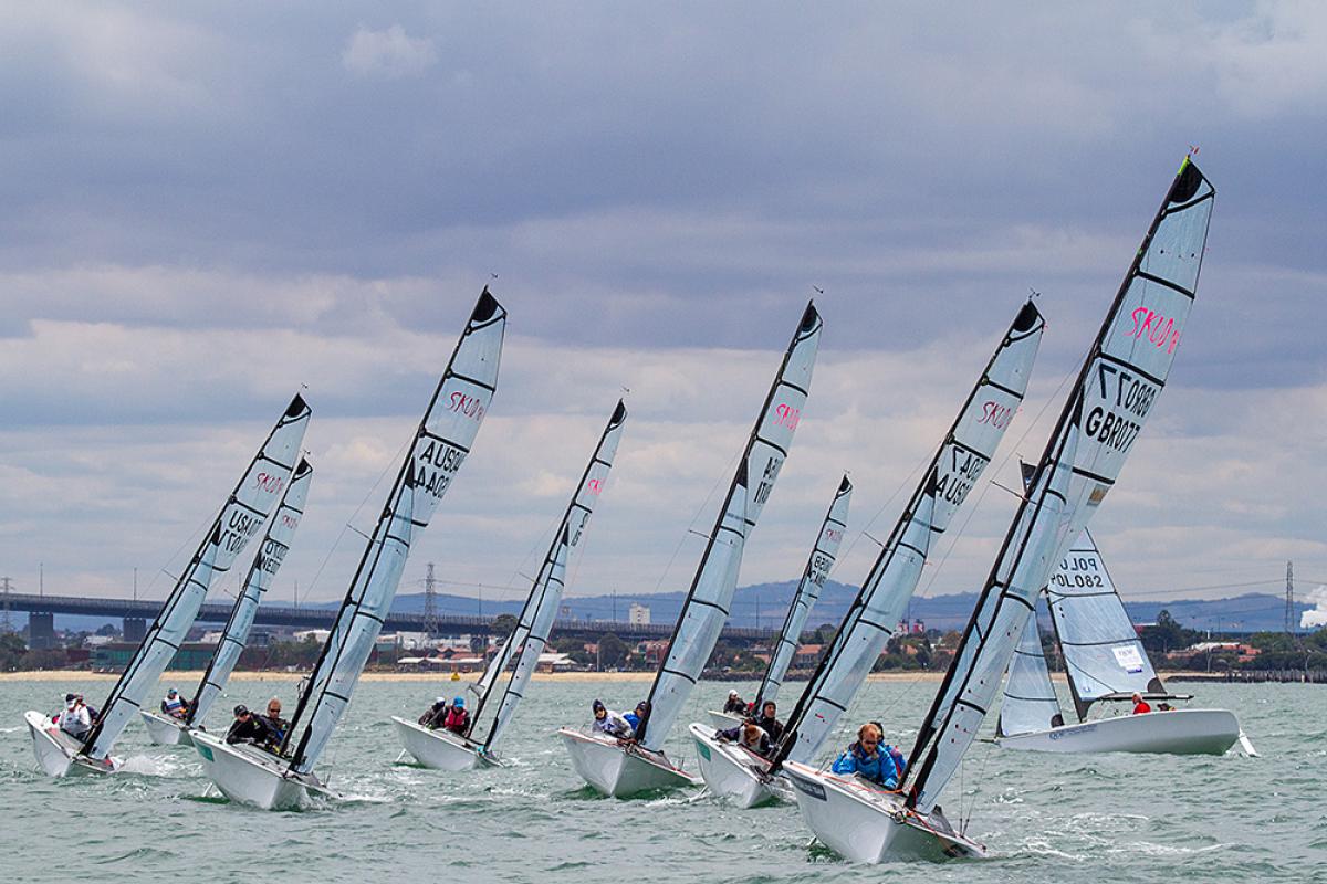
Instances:
[[[470,453],[498,386],[506,326],[507,311],[484,289],[425,411],[322,655],[296,706],[283,745],[283,753],[292,754],[291,770],[296,774],[312,771],[345,713],[382,620],[391,608],[411,538],[429,525]]]

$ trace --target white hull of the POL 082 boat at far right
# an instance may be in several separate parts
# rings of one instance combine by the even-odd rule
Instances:
[[[1028,734],[999,737],[1005,749],[1023,751],[1139,751],[1220,755],[1239,740],[1239,721],[1225,709],[1178,709],[1101,718]]]

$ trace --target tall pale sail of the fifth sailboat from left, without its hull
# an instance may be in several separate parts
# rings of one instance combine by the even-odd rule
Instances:
[[[815,305],[808,304],[747,439],[746,452],[673,628],[667,655],[654,676],[649,716],[641,728],[644,734],[637,734],[646,749],[658,751],[664,746],[729,619],[747,534],[764,509],[802,420],[823,326]]]

